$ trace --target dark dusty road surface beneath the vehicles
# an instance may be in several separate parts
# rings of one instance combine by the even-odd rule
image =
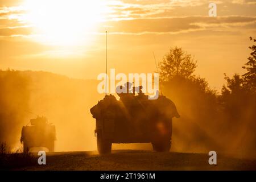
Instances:
[[[208,164],[208,154],[114,150],[109,155],[97,152],[48,153],[47,165],[24,170],[256,170],[256,160],[217,156],[217,166]]]

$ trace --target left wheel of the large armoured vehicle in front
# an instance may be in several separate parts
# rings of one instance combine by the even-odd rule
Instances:
[[[97,148],[99,154],[110,154],[112,148],[112,142],[104,139],[101,131],[97,132]]]

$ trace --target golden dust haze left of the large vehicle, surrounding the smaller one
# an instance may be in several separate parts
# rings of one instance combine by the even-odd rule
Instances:
[[[102,97],[96,81],[47,72],[1,71],[0,88],[0,142],[20,147],[22,126],[39,115],[56,126],[55,151],[97,149],[89,111]]]

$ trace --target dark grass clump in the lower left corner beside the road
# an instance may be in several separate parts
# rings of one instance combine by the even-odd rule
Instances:
[[[0,170],[20,169],[37,164],[37,159],[31,152],[22,151],[22,148],[18,148],[16,151],[10,152],[7,144],[1,143]]]

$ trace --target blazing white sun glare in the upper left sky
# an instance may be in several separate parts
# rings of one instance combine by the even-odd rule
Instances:
[[[25,0],[30,24],[38,39],[55,45],[77,45],[85,42],[104,20],[103,0]]]

